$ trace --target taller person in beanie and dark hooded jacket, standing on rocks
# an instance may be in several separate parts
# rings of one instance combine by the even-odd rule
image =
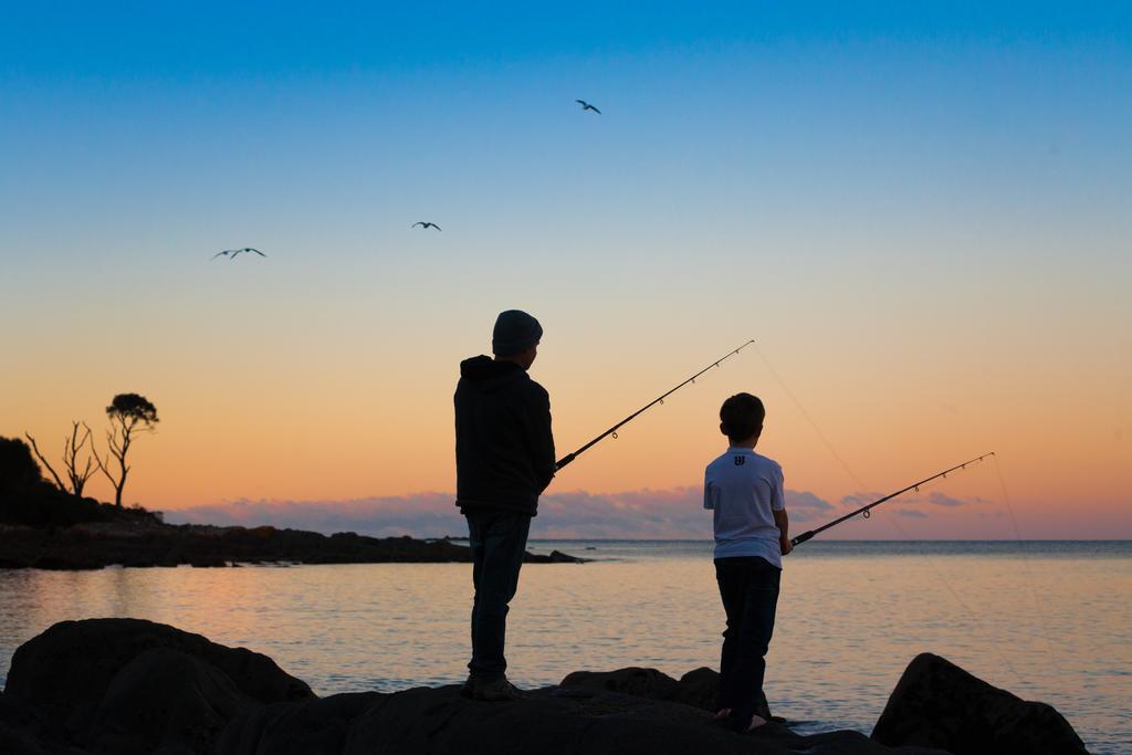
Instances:
[[[484,701],[521,696],[505,671],[507,604],[518,587],[539,495],[555,475],[550,398],[526,371],[542,326],[517,309],[500,312],[495,358],[460,363],[456,384],[456,506],[472,549],[472,660],[461,694]]]

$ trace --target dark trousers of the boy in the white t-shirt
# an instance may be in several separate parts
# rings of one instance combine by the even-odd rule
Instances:
[[[741,721],[751,720],[762,698],[781,576],[782,569],[763,558],[715,559],[715,581],[727,611],[719,706],[730,707]]]

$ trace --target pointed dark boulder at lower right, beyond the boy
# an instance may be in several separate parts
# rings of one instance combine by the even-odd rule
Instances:
[[[917,655],[904,669],[873,739],[954,755],[1087,752],[1069,721],[1049,705],[1026,702],[931,653]]]

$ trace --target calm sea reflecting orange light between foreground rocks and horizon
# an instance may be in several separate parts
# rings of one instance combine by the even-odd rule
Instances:
[[[707,542],[532,541],[595,559],[528,565],[511,677],[718,668],[723,612]],[[0,569],[0,683],[63,619],[132,616],[267,653],[319,694],[463,679],[461,564]],[[1132,542],[811,542],[786,561],[766,695],[799,731],[868,733],[931,651],[1056,706],[1091,752],[1132,753]]]

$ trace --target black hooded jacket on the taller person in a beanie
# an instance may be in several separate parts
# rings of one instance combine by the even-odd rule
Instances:
[[[456,384],[456,505],[535,515],[555,475],[550,397],[518,364],[473,357]]]

